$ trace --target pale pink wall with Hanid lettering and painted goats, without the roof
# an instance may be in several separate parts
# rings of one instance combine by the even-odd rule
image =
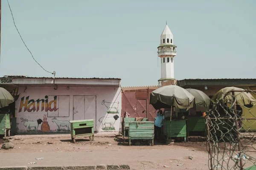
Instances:
[[[17,133],[69,133],[69,120],[94,119],[96,131],[119,131],[121,88],[19,87]]]

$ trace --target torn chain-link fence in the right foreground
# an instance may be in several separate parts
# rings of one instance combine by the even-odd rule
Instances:
[[[238,95],[255,92],[232,91],[207,112],[210,170],[256,170],[256,106],[237,105]]]

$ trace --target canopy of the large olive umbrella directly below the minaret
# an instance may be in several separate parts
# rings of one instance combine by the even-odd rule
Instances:
[[[177,85],[167,85],[151,92],[150,102],[155,109],[170,108],[174,106],[179,109],[193,108],[195,97]]]

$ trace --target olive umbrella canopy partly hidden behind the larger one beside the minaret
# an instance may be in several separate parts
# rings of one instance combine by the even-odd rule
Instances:
[[[186,88],[186,90],[195,97],[195,104],[204,108],[209,108],[211,99],[202,91],[193,88]]]

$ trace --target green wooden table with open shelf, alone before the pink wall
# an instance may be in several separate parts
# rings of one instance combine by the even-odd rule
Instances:
[[[90,137],[91,141],[94,141],[94,120],[71,120],[71,139],[73,143],[76,143],[76,138]]]

